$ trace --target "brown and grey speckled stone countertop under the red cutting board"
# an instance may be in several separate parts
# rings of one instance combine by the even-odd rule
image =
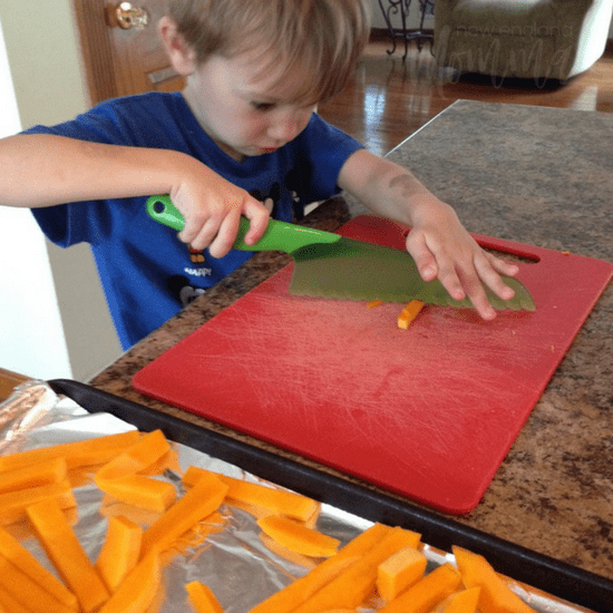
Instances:
[[[613,115],[458,101],[389,158],[453,204],[471,232],[613,262],[612,143]],[[306,223],[335,230],[360,212],[358,204],[337,198]],[[285,263],[285,256],[257,254],[90,383],[270,449],[136,393],[130,379]],[[580,331],[481,503],[456,519],[613,578],[612,288]]]

